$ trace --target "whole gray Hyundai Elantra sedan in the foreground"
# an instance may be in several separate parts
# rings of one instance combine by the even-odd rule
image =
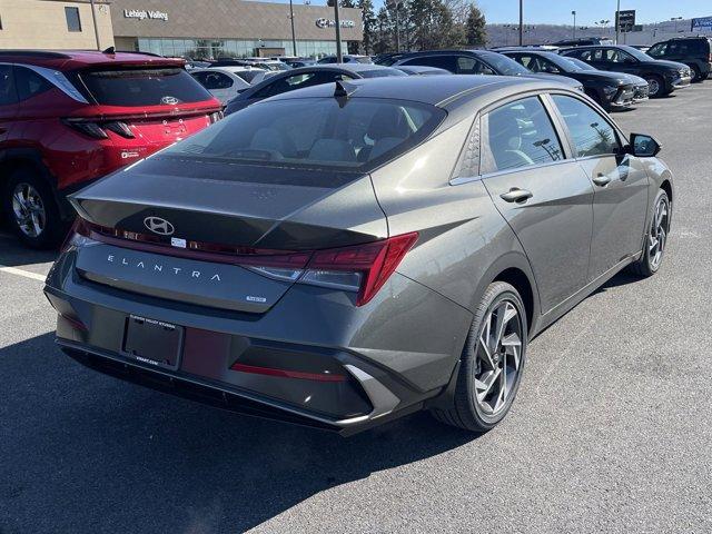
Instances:
[[[651,276],[673,180],[554,81],[336,82],[250,106],[76,194],[57,343],[126,380],[352,434],[421,408],[483,432],[527,343]]]

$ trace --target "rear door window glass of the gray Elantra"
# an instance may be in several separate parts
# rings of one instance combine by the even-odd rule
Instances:
[[[485,171],[514,169],[563,158],[552,121],[541,100],[525,98],[487,116]]]

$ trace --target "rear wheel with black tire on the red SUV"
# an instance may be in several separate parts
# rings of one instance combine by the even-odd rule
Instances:
[[[30,195],[24,196],[24,192]],[[9,227],[28,247],[57,247],[67,234],[69,224],[59,215],[52,189],[31,167],[19,167],[11,171],[2,189],[0,204]],[[20,218],[30,211],[34,217],[30,216],[23,225]]]

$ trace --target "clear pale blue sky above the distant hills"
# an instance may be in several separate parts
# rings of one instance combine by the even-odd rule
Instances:
[[[613,20],[617,0],[523,0],[525,24],[571,24],[572,10],[576,26],[593,26],[594,21]],[[476,0],[487,22],[518,22],[518,0]],[[621,0],[621,10],[634,9],[635,22],[662,22],[672,17],[712,16],[710,0]]]

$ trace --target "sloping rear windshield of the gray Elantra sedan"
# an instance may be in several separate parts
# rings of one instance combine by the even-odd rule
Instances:
[[[434,106],[389,99],[266,100],[164,154],[357,169],[404,154],[425,139],[445,115]]]

